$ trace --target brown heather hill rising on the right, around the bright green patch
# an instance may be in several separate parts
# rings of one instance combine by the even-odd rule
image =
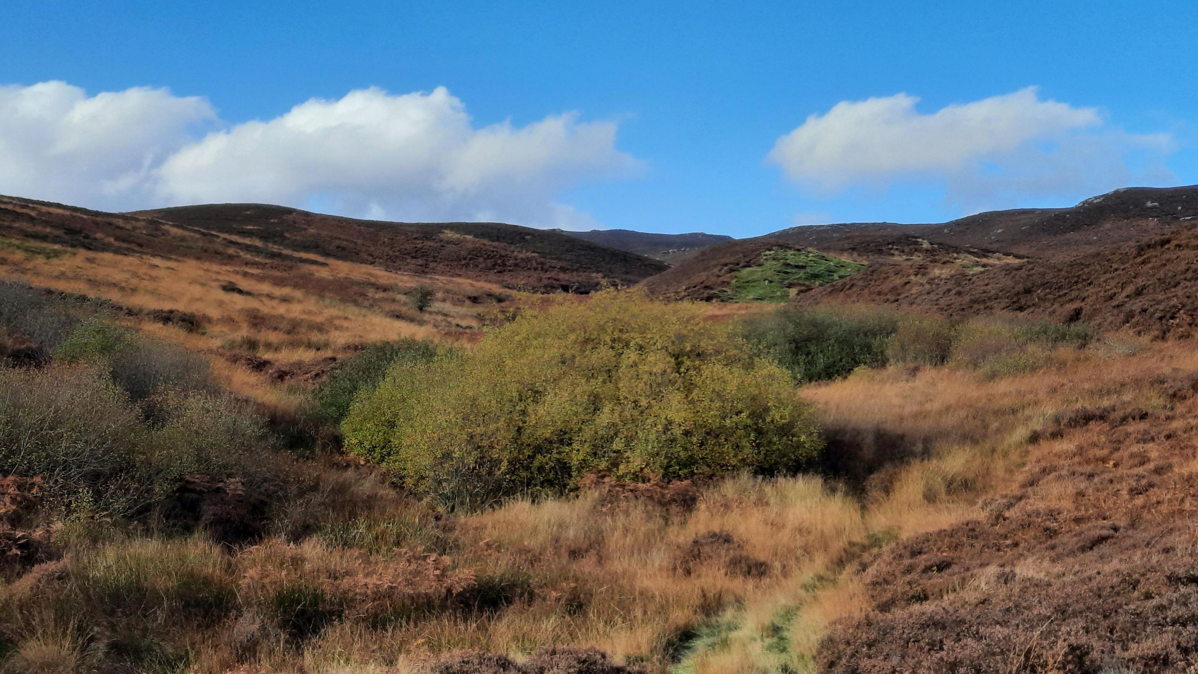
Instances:
[[[894,303],[964,317],[1005,311],[1166,335],[1198,327],[1198,187],[1129,188],[1070,209],[1019,209],[940,224],[797,227],[708,248],[643,282],[715,300],[773,248],[865,263],[795,288],[795,301]]]

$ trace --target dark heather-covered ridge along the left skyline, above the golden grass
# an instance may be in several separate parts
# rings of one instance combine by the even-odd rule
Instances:
[[[320,257],[533,293],[586,293],[666,269],[634,253],[512,224],[387,223],[244,204],[105,213],[0,197],[0,237],[8,247],[28,241],[255,265],[313,264]]]

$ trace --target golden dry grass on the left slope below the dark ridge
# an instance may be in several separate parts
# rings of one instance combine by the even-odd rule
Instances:
[[[265,373],[226,362],[222,354],[249,351],[288,363],[340,356],[361,344],[404,337],[470,342],[503,307],[496,299],[513,303],[524,299],[491,283],[395,273],[315,255],[303,257],[321,264],[271,271],[240,259],[214,264],[61,251],[60,257],[48,257],[0,247],[0,278],[132,308],[139,315],[126,320],[139,330],[210,354],[220,384],[283,409],[297,404],[294,392],[272,385]],[[229,282],[241,293],[222,289]],[[412,308],[405,294],[420,285],[435,291],[432,306],[423,313]],[[155,309],[195,314],[201,326],[184,330],[159,323],[146,315]]]

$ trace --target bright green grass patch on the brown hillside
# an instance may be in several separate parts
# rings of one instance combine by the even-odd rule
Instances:
[[[774,248],[761,254],[761,264],[745,267],[725,291],[733,302],[785,302],[791,288],[823,285],[865,269],[861,263],[825,255],[818,251]]]

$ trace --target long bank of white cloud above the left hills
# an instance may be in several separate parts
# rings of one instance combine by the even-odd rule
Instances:
[[[68,91],[74,108],[24,102],[47,88]],[[85,205],[265,201],[359,217],[588,228],[593,219],[557,197],[579,181],[639,166],[616,149],[613,122],[567,113],[477,128],[443,88],[356,90],[237,125],[220,125],[204,100],[165,90],[87,98],[78,88],[46,83],[0,92],[0,191]],[[14,103],[5,106],[5,95]],[[28,120],[38,133],[19,146],[25,136],[7,131],[10,119]],[[217,128],[194,134],[198,122]],[[68,167],[75,176],[60,180]]]

